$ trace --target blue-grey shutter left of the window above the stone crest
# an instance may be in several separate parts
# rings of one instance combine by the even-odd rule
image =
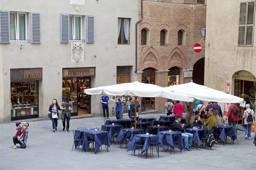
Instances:
[[[61,42],[69,42],[69,14],[61,14]]]

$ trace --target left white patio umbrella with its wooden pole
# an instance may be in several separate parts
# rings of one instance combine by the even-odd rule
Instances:
[[[192,96],[186,94],[177,94],[169,91],[166,88],[141,82],[122,83],[97,88],[90,88],[85,89],[84,93],[89,95],[108,94],[113,96],[135,96],[135,106],[137,106],[137,97],[164,97],[185,102],[192,102],[194,100],[194,97]],[[135,107],[135,128],[136,118],[137,107]]]

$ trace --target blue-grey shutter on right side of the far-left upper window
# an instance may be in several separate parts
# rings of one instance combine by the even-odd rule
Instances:
[[[30,32],[31,32],[31,43],[41,43],[41,13],[31,12],[30,13]]]

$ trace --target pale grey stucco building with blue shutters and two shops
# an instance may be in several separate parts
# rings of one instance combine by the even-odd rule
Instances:
[[[137,0],[1,0],[0,123],[47,119],[66,98],[73,116],[102,116],[83,89],[137,80],[137,20]]]

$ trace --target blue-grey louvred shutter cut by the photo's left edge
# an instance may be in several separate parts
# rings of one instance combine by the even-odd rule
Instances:
[[[10,11],[0,11],[0,43],[10,43]]]

